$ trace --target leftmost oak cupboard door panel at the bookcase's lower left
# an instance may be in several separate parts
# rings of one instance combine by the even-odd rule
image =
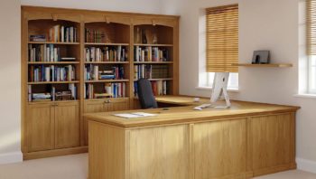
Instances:
[[[51,104],[29,105],[27,114],[28,151],[53,149],[54,114]]]

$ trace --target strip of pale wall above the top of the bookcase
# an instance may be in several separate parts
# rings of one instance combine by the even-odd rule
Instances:
[[[22,5],[160,14],[159,0],[21,0]]]

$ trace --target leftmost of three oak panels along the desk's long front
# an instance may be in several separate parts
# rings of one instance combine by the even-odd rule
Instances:
[[[129,178],[189,179],[189,137],[188,125],[131,130]]]

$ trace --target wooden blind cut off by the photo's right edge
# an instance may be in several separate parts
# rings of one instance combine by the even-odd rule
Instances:
[[[306,50],[316,55],[316,0],[306,0]]]

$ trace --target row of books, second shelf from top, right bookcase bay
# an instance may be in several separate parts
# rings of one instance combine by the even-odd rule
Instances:
[[[158,47],[135,46],[134,56],[134,61],[170,61],[168,50]]]

